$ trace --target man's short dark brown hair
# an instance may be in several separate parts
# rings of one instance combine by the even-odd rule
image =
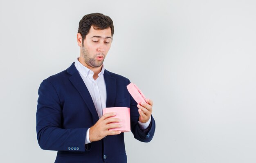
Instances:
[[[83,40],[88,34],[91,26],[93,26],[94,29],[100,30],[110,27],[111,36],[113,37],[114,25],[113,21],[109,16],[103,15],[102,13],[90,13],[88,15],[84,15],[83,18],[80,20],[78,27],[78,33],[82,35]]]

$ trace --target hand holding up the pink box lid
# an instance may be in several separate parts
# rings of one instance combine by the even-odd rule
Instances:
[[[139,121],[141,123],[146,123],[152,113],[153,101],[150,99],[146,99],[146,101],[148,102],[148,104],[142,102],[140,105],[137,105],[137,107],[139,108]]]

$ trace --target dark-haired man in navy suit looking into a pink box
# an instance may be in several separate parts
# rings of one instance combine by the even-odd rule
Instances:
[[[57,150],[56,163],[126,163],[124,133],[116,113],[106,107],[130,108],[135,139],[149,142],[155,132],[153,101],[137,104],[126,86],[130,81],[109,72],[103,61],[110,49],[114,26],[101,13],[79,22],[80,57],[67,70],[45,79],[38,90],[36,131],[40,147]]]

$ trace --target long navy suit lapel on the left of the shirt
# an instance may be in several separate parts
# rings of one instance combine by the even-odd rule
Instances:
[[[85,86],[83,79],[81,78],[79,72],[76,70],[74,63],[67,69],[67,73],[70,73],[71,76],[69,79],[70,79],[71,83],[74,85],[76,90],[79,92],[79,94],[83,98],[83,101],[85,101],[85,104],[88,106],[90,112],[92,113],[94,123],[96,123],[99,120],[99,116],[98,116],[95,106],[93,104],[92,97],[89,93],[89,90]]]

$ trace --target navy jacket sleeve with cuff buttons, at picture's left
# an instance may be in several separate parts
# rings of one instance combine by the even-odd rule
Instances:
[[[88,128],[62,128],[63,106],[52,83],[45,79],[38,90],[36,132],[43,150],[85,151]]]

